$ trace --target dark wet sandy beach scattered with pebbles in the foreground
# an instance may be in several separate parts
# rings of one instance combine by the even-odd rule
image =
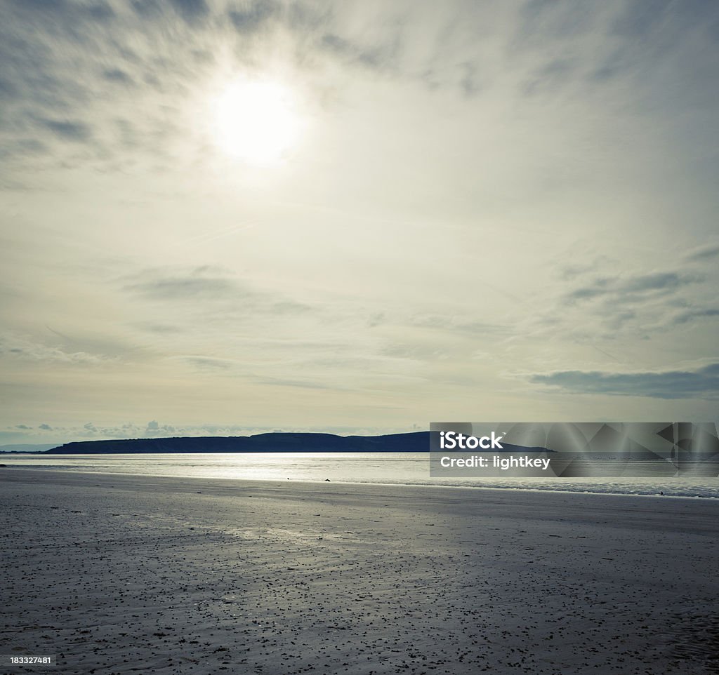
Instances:
[[[0,653],[58,660],[25,671],[719,669],[717,500],[20,469],[0,500]]]

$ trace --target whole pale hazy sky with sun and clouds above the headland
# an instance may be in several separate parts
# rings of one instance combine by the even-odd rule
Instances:
[[[716,421],[714,0],[4,0],[0,444]]]

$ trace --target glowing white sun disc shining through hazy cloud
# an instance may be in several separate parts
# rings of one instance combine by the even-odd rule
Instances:
[[[278,83],[237,80],[217,100],[219,147],[246,162],[279,162],[296,142],[299,130],[292,93]]]

